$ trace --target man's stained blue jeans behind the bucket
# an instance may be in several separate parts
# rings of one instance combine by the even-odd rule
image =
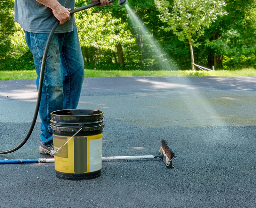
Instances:
[[[37,90],[44,48],[49,34],[26,33],[26,42],[34,57],[37,73]],[[84,60],[76,27],[72,32],[54,34],[47,55],[44,71],[39,116],[41,118],[41,140],[51,146],[51,112],[75,109],[84,80]]]

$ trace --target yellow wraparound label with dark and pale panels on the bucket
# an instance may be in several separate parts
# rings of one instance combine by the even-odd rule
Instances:
[[[58,150],[71,137],[53,134],[53,147]],[[54,154],[55,170],[63,173],[88,173],[102,168],[102,133],[73,137]]]

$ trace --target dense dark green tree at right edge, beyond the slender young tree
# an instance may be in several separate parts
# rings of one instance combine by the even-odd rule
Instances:
[[[256,1],[227,0],[226,16],[219,18],[205,32],[207,65],[224,69],[255,66]]]

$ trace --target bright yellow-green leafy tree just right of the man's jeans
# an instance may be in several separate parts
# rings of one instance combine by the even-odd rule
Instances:
[[[95,48],[98,55],[100,50],[112,53],[117,51],[118,62],[124,64],[122,45],[135,42],[127,29],[127,23],[122,23],[121,19],[113,18],[112,13],[108,10],[97,13],[93,11],[94,8],[91,8],[76,14],[81,46]],[[88,62],[88,54],[86,57]]]

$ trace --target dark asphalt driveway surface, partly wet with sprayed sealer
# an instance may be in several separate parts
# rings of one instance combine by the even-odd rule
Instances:
[[[0,150],[32,120],[35,80],[0,81]],[[176,153],[103,162],[102,175],[61,180],[54,164],[0,164],[0,207],[256,207],[256,77],[86,78],[78,108],[104,111],[103,156]],[[40,119],[1,159],[44,158]]]

